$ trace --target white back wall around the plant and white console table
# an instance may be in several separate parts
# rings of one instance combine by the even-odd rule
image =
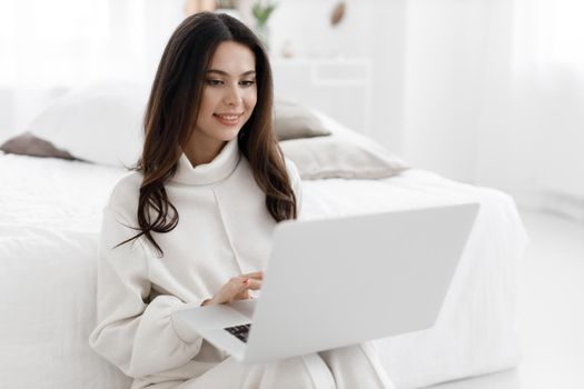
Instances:
[[[406,0],[348,0],[345,19],[331,28],[337,2],[279,1],[270,19],[271,54],[281,54],[288,42],[297,58],[370,59],[372,118],[363,131],[400,152]]]

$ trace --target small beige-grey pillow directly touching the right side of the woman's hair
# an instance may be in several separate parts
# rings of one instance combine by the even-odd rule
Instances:
[[[274,127],[278,140],[330,134],[318,116],[291,100],[281,98],[274,100]]]

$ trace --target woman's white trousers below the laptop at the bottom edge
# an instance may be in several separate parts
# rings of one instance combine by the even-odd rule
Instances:
[[[227,358],[177,389],[395,389],[372,343],[245,365]]]

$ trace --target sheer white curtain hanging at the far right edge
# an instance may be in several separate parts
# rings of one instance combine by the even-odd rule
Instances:
[[[509,36],[492,47],[508,66],[489,70],[478,182],[584,219],[584,2],[515,0],[511,11]]]

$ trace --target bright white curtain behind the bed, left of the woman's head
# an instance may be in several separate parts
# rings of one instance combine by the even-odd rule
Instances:
[[[0,0],[0,138],[71,87],[150,80],[182,3]]]

